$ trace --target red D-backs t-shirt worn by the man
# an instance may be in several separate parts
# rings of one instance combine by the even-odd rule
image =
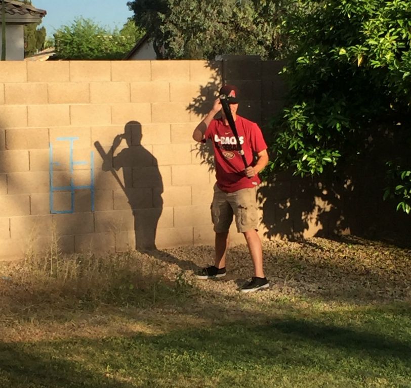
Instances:
[[[254,154],[267,149],[261,129],[256,123],[238,115],[235,127],[245,160],[249,166],[254,166]],[[213,141],[217,185],[222,191],[234,192],[242,188],[255,187],[261,182],[258,175],[253,178],[246,177],[237,141],[230,126],[225,125],[223,119],[212,120],[204,137]]]

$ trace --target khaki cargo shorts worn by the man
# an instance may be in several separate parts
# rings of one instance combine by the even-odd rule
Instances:
[[[257,189],[243,188],[234,192],[224,192],[214,185],[211,204],[211,219],[216,233],[227,232],[235,216],[239,233],[257,230]]]

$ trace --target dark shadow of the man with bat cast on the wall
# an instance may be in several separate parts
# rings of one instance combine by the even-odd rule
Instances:
[[[112,173],[133,211],[136,250],[151,251],[156,249],[155,235],[162,213],[163,183],[157,159],[141,145],[142,137],[141,124],[130,121],[124,133],[115,136],[107,154],[98,141],[95,146],[103,159],[103,171]],[[115,154],[122,140],[126,141],[127,147]],[[122,169],[124,184],[117,174],[119,169]],[[114,208],[117,210],[115,203]]]

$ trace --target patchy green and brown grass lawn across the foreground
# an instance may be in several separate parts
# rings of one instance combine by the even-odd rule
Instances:
[[[23,281],[19,268],[7,268],[14,283],[0,283],[0,387],[411,387],[406,293],[337,298],[298,292],[298,282],[291,294],[225,293],[174,263],[151,267],[144,286],[126,281],[91,300],[38,273]],[[163,277],[170,271],[174,280]]]

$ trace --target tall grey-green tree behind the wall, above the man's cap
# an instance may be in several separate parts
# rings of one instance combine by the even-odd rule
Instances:
[[[127,5],[153,40],[157,58],[214,59],[216,55],[286,53],[280,18],[288,0],[134,0]]]

